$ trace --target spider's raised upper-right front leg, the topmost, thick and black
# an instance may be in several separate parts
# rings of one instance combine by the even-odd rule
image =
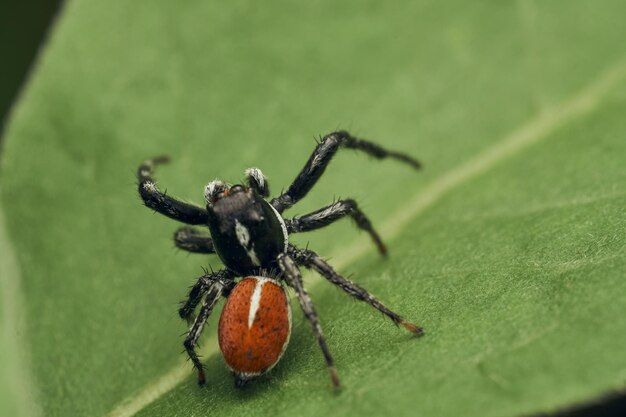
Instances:
[[[341,147],[357,149],[377,159],[392,158],[407,163],[416,169],[421,167],[416,159],[404,153],[388,151],[382,146],[356,138],[343,130],[333,132],[326,135],[317,145],[315,151],[313,151],[313,154],[304,165],[304,168],[300,171],[287,191],[272,199],[272,206],[274,206],[279,213],[282,213],[301,200],[311,188],[313,188],[317,180],[324,173],[324,170],[333,156],[335,156]]]

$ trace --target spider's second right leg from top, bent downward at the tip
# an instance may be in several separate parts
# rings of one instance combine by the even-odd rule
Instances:
[[[372,226],[367,216],[359,209],[354,200],[339,200],[329,206],[323,207],[304,216],[294,217],[285,221],[289,233],[309,232],[320,229],[345,217],[350,216],[355,221],[357,227],[365,230],[378,248],[381,255],[387,255],[387,247]]]

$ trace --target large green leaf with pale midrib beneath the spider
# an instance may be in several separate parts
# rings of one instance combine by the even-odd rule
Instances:
[[[0,411],[515,416],[623,389],[625,11],[68,2],[4,137]],[[389,260],[347,221],[293,241],[426,336],[308,275],[343,391],[297,313],[281,363],[244,390],[215,315],[198,388],[175,310],[219,262],[174,250],[134,169],[170,154],[159,182],[196,202],[249,166],[277,192],[338,126],[426,168],[346,151],[288,213],[354,197]]]

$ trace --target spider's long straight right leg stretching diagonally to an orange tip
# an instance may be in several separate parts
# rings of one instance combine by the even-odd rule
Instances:
[[[298,249],[290,245],[288,253],[298,264],[303,265],[306,268],[313,269],[324,278],[326,278],[328,281],[332,282],[357,300],[364,301],[367,304],[371,305],[376,310],[389,317],[391,321],[394,322],[394,324],[404,327],[416,336],[421,336],[422,334],[424,334],[424,330],[421,327],[405,321],[402,317],[400,317],[399,314],[393,312],[383,303],[378,301],[366,289],[339,275],[337,272],[335,272],[333,267],[331,267],[325,260],[320,258],[319,255],[312,250]]]

